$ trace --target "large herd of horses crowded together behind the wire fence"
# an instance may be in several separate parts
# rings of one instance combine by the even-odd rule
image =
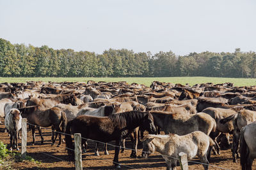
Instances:
[[[35,145],[35,129],[43,145],[41,127],[51,127],[52,145],[58,137],[58,146],[65,141],[70,159],[74,159],[74,133],[81,133],[83,152],[87,139],[97,141],[95,155],[99,155],[99,142],[106,143],[108,155],[107,143],[115,141],[115,167],[120,167],[118,154],[120,148],[124,152],[125,138],[132,142],[130,157],[138,157],[142,142],[141,157],[159,152],[167,169],[176,168],[180,152],[187,153],[188,159],[198,156],[204,169],[211,152],[221,154],[221,148],[232,146],[230,157],[234,162],[241,157],[242,169],[252,169],[256,157],[256,86],[201,83],[191,87],[159,81],[150,87],[125,81],[0,83],[0,117],[5,117],[10,150],[19,150],[21,118],[27,118],[31,145]]]

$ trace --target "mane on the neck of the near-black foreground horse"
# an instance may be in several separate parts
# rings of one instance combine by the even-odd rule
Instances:
[[[145,117],[145,114],[148,114],[148,113],[141,112],[141,111],[127,111],[124,113],[111,114],[108,116],[108,118],[111,121],[115,122],[116,124],[119,124],[120,126],[125,127],[131,124],[138,124],[141,118]]]

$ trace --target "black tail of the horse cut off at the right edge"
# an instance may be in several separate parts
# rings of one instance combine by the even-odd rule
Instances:
[[[248,150],[248,146],[244,140],[244,131],[245,131],[245,127],[243,127],[241,129],[241,133],[240,133],[240,164],[242,166],[242,170],[246,169],[246,160],[248,159],[248,155],[249,155],[249,150]]]

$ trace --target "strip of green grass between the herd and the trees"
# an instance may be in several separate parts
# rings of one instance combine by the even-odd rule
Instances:
[[[4,78],[0,77],[0,83],[3,82],[26,82],[26,81],[85,81],[88,80],[94,80],[94,81],[127,81],[127,83],[139,83],[149,86],[152,81],[161,81],[161,82],[170,82],[170,83],[181,83],[182,85],[185,85],[186,83],[189,83],[189,85],[195,85],[196,83],[225,83],[225,82],[232,82],[234,83],[234,86],[250,86],[250,85],[256,85],[256,78],[216,78],[216,77],[150,77],[150,78],[142,78],[142,77],[128,77],[128,78],[86,78],[86,77],[80,77],[80,78]]]

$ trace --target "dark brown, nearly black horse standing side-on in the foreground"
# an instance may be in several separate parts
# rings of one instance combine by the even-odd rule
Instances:
[[[124,113],[116,113],[108,117],[92,117],[81,115],[74,118],[67,124],[66,129],[66,146],[74,149],[72,138],[69,134],[81,133],[82,145],[87,139],[101,141],[107,143],[116,141],[115,157],[113,163],[115,167],[120,167],[118,162],[118,154],[122,139],[127,138],[136,127],[143,127],[148,132],[154,133],[154,119],[150,113],[140,111],[128,111]],[[68,150],[68,155],[74,156],[72,150]]]

